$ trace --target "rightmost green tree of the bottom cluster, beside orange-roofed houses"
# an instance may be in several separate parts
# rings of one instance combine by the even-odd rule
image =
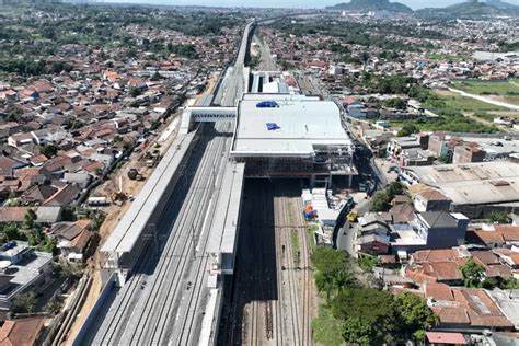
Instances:
[[[426,301],[411,292],[396,296],[396,310],[401,315],[401,321],[405,323],[407,334],[414,335],[418,331],[426,331],[437,322],[436,314],[427,307]]]

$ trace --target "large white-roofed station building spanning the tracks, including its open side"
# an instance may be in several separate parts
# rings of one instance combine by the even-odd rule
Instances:
[[[309,178],[331,186],[334,176],[357,175],[354,146],[341,111],[319,97],[247,93],[238,104],[230,155],[246,162],[251,177]]]

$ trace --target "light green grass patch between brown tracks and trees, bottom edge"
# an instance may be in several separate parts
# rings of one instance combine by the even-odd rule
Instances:
[[[325,305],[319,308],[319,315],[312,320],[313,336],[324,346],[346,345],[343,334],[343,322],[333,316]]]

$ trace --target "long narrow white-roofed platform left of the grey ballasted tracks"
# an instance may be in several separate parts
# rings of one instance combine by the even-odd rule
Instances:
[[[196,131],[178,135],[166,151],[131,206],[117,223],[100,250],[105,269],[131,270],[142,242],[139,239],[162,212],[164,200],[170,197],[180,171],[191,157]]]

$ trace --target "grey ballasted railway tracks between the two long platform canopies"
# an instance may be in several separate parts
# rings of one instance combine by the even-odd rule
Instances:
[[[224,124],[217,125],[217,130],[229,129],[229,123],[227,127]],[[200,153],[200,163],[196,168],[186,168],[187,172],[196,169],[197,173],[193,176],[188,191],[175,187],[172,195],[175,201],[163,212],[168,216],[173,211],[171,209],[182,206],[177,217],[165,222],[169,224],[160,224],[161,230],[168,229],[163,233],[169,234],[169,238],[159,262],[154,265],[150,251],[145,251],[143,258],[139,261],[139,274],[134,275],[124,286],[116,309],[105,319],[103,325],[106,326],[97,333],[94,344],[164,344],[170,341],[176,327],[183,339],[195,337],[192,331],[194,320],[199,318],[195,312],[199,305],[199,296],[203,296],[201,287],[207,272],[205,249],[209,233],[201,231],[200,216],[206,215],[215,193],[216,181],[211,177],[211,172],[218,172],[227,159],[220,153],[226,151],[228,141],[228,137],[209,138],[207,150]],[[204,255],[193,258],[192,254],[196,253],[196,237],[200,237],[200,253]],[[189,284],[184,280],[185,277],[193,276],[194,285],[193,281]],[[142,284],[145,279],[148,282]],[[188,313],[182,316],[183,320],[173,320],[184,302],[187,302]]]

